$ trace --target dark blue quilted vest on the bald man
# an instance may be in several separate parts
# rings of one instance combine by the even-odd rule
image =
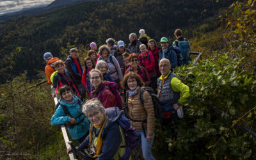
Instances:
[[[161,102],[161,108],[164,112],[175,112],[173,104],[176,104],[180,99],[180,92],[175,92],[172,90],[171,81],[172,78],[176,77],[175,74],[170,72],[168,77],[164,79],[164,82],[161,79],[157,79],[157,97]]]

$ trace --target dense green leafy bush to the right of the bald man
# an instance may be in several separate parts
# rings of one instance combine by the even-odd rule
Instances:
[[[175,68],[175,74],[188,84],[191,97],[189,105],[184,107],[184,118],[175,122],[177,135],[162,133],[173,153],[172,159],[256,158],[252,152],[256,149],[255,139],[237,127],[230,127],[239,124],[256,131],[255,109],[238,121],[256,106],[256,79],[253,72],[239,67],[241,61],[243,59],[232,60],[223,54],[218,60],[211,58]],[[209,104],[223,111],[233,122],[216,114]]]

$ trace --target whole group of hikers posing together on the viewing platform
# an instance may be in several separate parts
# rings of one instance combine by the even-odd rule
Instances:
[[[46,52],[47,84],[58,99],[51,124],[65,124],[80,144],[76,149],[89,150],[93,159],[129,159],[136,143],[144,159],[154,159],[155,118],[172,129],[190,95],[189,87],[172,72],[191,61],[190,45],[180,29],[174,35],[172,45],[162,37],[161,47],[144,29],[138,38],[129,35],[127,48],[124,41],[115,45],[108,38],[97,51],[92,42],[84,68],[76,48],[65,62]]]

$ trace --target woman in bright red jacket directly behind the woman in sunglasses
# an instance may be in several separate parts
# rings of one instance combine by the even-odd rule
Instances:
[[[154,88],[154,90],[157,89],[156,86],[156,71],[155,71],[155,59],[152,52],[147,50],[147,47],[145,44],[140,45],[140,52],[141,54],[138,56],[138,59],[141,64],[147,69],[148,76],[150,78],[150,86]]]

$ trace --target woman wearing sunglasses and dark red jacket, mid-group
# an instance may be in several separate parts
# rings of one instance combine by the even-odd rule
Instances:
[[[134,72],[134,73],[140,75],[145,86],[149,86],[150,78],[148,76],[148,72],[147,72],[146,68],[139,65],[138,55],[136,53],[130,54],[129,63],[131,65],[129,66],[129,68],[127,69],[125,74],[128,74],[129,72]]]

